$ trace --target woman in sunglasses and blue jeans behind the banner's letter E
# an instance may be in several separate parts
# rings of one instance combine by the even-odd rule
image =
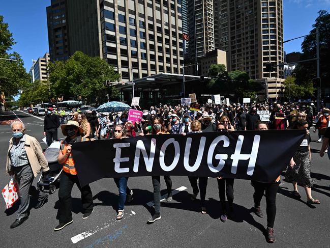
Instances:
[[[126,129],[122,124],[114,125],[112,130],[112,139],[124,139],[126,138]],[[113,178],[115,184],[118,187],[119,198],[118,198],[118,214],[116,217],[117,221],[120,221],[124,217],[124,207],[126,196],[130,196],[128,201],[133,200],[133,190],[127,187],[128,177],[115,177]]]

